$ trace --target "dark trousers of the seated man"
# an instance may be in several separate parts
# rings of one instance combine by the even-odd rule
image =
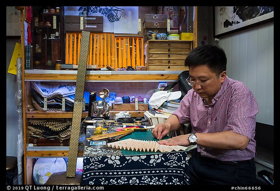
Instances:
[[[256,165],[254,159],[241,163],[222,162],[201,157],[196,149],[189,159],[191,185],[254,185]]]

